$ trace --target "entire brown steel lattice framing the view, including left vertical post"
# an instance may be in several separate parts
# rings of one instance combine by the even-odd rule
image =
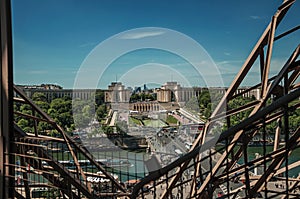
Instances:
[[[299,168],[300,161],[290,162],[290,156],[300,147],[300,128],[291,128],[289,118],[299,110],[300,46],[282,66],[277,75],[269,77],[272,67],[273,46],[277,40],[299,30],[296,26],[278,36],[276,28],[295,0],[284,1],[226,94],[212,113],[204,130],[196,138],[186,155],[166,167],[152,171],[141,179],[132,190],[116,180],[96,161],[94,156],[80,143],[74,141],[41,108],[36,106],[22,90],[13,86],[12,40],[10,1],[1,0],[1,131],[0,131],[0,197],[31,198],[31,190],[46,187],[58,191],[60,198],[297,198],[298,177],[290,177],[292,168]],[[261,98],[248,104],[232,108],[229,103],[243,95],[235,94],[247,77],[255,61],[260,63],[261,82],[244,92],[260,88]],[[13,98],[13,95],[15,96]],[[13,112],[15,104],[27,104],[30,113]],[[239,114],[250,114],[232,125],[231,118]],[[14,114],[14,115],[13,115]],[[13,118],[14,116],[14,118]],[[26,133],[16,124],[25,118],[31,121],[33,132]],[[15,121],[15,123],[13,123]],[[38,123],[46,123],[59,135],[52,137],[38,131]],[[206,139],[221,122],[227,127],[219,136]],[[272,151],[267,151],[267,128],[274,127]],[[260,157],[250,158],[250,143],[261,135]],[[218,147],[214,147],[218,144]],[[74,162],[66,167],[58,161],[58,147],[65,148],[70,155],[63,157]],[[80,164],[84,159],[95,171],[90,172]],[[18,164],[16,163],[18,160]],[[257,172],[260,170],[260,173]],[[16,182],[22,178],[22,183]],[[39,176],[31,179],[30,176]],[[95,193],[87,176],[101,177],[109,181],[109,191]],[[43,179],[43,180],[40,180]],[[46,180],[46,181],[44,181]],[[45,183],[47,182],[47,183]],[[277,185],[277,186],[276,186]],[[280,187],[280,188],[278,188]],[[284,188],[282,188],[284,187]],[[220,195],[219,195],[220,194]],[[222,196],[221,196],[222,195]]]

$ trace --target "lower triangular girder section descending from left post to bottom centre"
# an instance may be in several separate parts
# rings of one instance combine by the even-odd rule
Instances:
[[[32,111],[32,115],[27,115],[27,114],[22,114],[22,113],[16,113],[18,116],[24,117],[24,118],[28,118],[28,119],[31,119],[31,120],[34,120],[34,121],[46,122],[46,123],[50,124],[53,129],[57,130],[61,134],[61,136],[62,136],[62,138],[51,138],[49,136],[41,136],[41,135],[39,135],[39,132],[37,131],[37,128],[35,128],[35,133],[34,134],[26,134],[26,133],[22,132],[22,130],[20,128],[18,128],[17,126],[15,126],[16,132],[18,132],[18,134],[21,137],[26,138],[26,140],[27,140],[26,142],[28,142],[25,145],[22,144],[22,146],[26,146],[28,148],[34,149],[35,153],[38,154],[39,157],[43,157],[43,158],[46,158],[47,160],[50,160],[50,161],[47,161],[47,163],[49,164],[49,166],[52,167],[56,172],[58,172],[61,175],[61,177],[63,177],[63,179],[64,179],[64,181],[61,182],[60,179],[59,179],[59,177],[58,176],[54,176],[53,173],[44,172],[44,171],[47,170],[47,168],[41,166],[41,164],[39,165],[38,162],[36,162],[36,160],[32,160],[30,158],[29,159],[26,158],[27,161],[31,161],[30,164],[32,164],[33,167],[41,170],[42,175],[46,179],[48,179],[49,182],[53,183],[56,187],[63,187],[62,183],[68,185],[69,188],[67,190],[61,190],[61,191],[63,191],[64,194],[68,195],[68,197],[70,197],[70,198],[80,198],[80,193],[82,193],[83,195],[85,195],[88,198],[95,198],[95,197],[97,197],[92,192],[92,189],[90,187],[90,182],[87,181],[86,172],[84,172],[82,170],[82,168],[81,168],[81,166],[80,166],[80,164],[78,162],[77,156],[75,154],[75,150],[76,150],[76,152],[81,153],[87,160],[90,161],[90,163],[92,165],[94,165],[99,171],[101,171],[102,175],[104,175],[105,178],[109,179],[113,183],[113,186],[115,188],[117,188],[118,190],[121,191],[121,192],[118,192],[118,193],[112,193],[112,195],[119,195],[119,196],[120,195],[128,195],[128,192],[123,187],[123,185],[121,185],[112,175],[110,175],[104,169],[104,167],[101,164],[99,164],[94,159],[94,157],[90,154],[89,151],[87,151],[87,149],[85,149],[84,147],[82,147],[79,143],[77,143],[70,136],[68,136],[66,133],[64,133],[63,129],[60,126],[58,126],[39,107],[37,107],[32,102],[32,100],[29,99],[25,95],[25,93],[23,93],[22,90],[20,90],[16,86],[14,87],[14,90],[17,93],[17,95],[19,97],[21,97],[21,99],[22,99],[22,100],[19,100],[20,98],[18,98],[18,102],[26,103],[26,104],[30,105],[32,107],[32,110],[33,110]],[[56,142],[60,142],[60,143],[66,144],[67,147],[68,147],[68,150],[71,152],[72,158],[73,158],[75,166],[77,168],[77,172],[75,174],[73,174],[72,171],[66,169],[65,167],[63,167],[57,161],[51,161],[51,160],[53,160],[52,156],[50,156],[49,154],[47,154],[47,152],[44,151],[44,149],[42,147],[37,146],[38,145],[37,141],[39,141],[39,140],[42,140],[42,141],[56,141]],[[14,142],[14,143],[17,143],[17,142]],[[34,161],[34,162],[32,162],[32,161]],[[82,177],[83,182],[81,182],[80,176]],[[74,191],[72,191],[71,190],[71,185],[74,186],[74,187],[76,187],[79,192],[75,193]],[[28,186],[27,186],[26,190],[28,190]],[[100,197],[100,195],[99,195],[99,197]],[[105,193],[104,195],[108,196],[110,194]]]

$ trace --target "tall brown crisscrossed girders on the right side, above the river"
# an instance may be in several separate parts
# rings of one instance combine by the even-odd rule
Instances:
[[[159,177],[166,177],[165,183],[167,184],[166,189],[163,190],[163,194],[161,196],[162,199],[167,198],[169,196],[172,197],[171,193],[173,189],[180,186],[181,183],[178,182],[179,179],[181,179],[183,171],[188,167],[190,164],[194,164],[193,168],[195,168],[195,175],[194,178],[191,179],[192,185],[191,193],[189,197],[191,198],[206,198],[209,196],[209,194],[212,194],[211,192],[214,191],[215,187],[221,183],[219,180],[229,180],[229,175],[236,174],[237,171],[243,171],[247,172],[249,171],[249,167],[257,167],[258,165],[263,165],[266,169],[266,171],[271,171],[272,167],[268,167],[266,162],[271,162],[272,157],[274,160],[276,160],[277,165],[275,166],[275,163],[273,164],[275,167],[273,169],[278,169],[278,165],[283,164],[283,160],[285,160],[287,157],[285,149],[279,148],[279,135],[280,135],[280,128],[282,126],[278,125],[277,132],[276,132],[276,143],[274,145],[274,152],[269,153],[267,156],[263,156],[262,158],[257,158],[254,160],[248,160],[247,158],[247,145],[251,141],[251,139],[258,133],[259,129],[262,129],[263,135],[264,135],[264,141],[266,140],[266,125],[269,125],[271,122],[279,121],[282,117],[285,118],[284,127],[285,132],[288,130],[288,123],[287,123],[287,114],[290,111],[293,111],[294,109],[299,108],[299,104],[294,104],[293,106],[288,106],[288,103],[296,98],[299,98],[300,96],[300,90],[299,86],[300,84],[294,84],[296,79],[299,77],[299,61],[297,61],[299,56],[299,46],[295,49],[295,51],[292,53],[288,61],[285,63],[285,65],[282,67],[281,71],[274,77],[269,78],[269,71],[271,68],[271,57],[272,57],[272,50],[273,45],[276,40],[279,40],[286,35],[289,35],[292,32],[295,32],[296,30],[300,29],[299,26],[292,28],[291,30],[288,30],[279,36],[275,36],[275,31],[279,23],[282,21],[283,17],[285,16],[286,12],[289,10],[289,8],[293,5],[295,0],[287,0],[282,3],[282,5],[278,8],[277,12],[274,14],[272,21],[268,25],[268,27],[265,29],[264,33],[256,43],[255,47],[253,48],[252,52],[246,59],[245,63],[243,64],[241,70],[237,74],[236,78],[232,82],[231,86],[221,99],[220,103],[214,110],[214,112],[211,115],[211,118],[209,121],[205,124],[204,127],[204,133],[201,134],[196,141],[193,144],[192,151],[190,151],[189,154],[183,156],[182,158],[178,159],[174,163],[171,163],[171,165],[166,166],[165,168],[160,169],[157,172],[151,173],[151,177],[147,176],[145,179],[140,182],[133,191],[132,198],[135,198],[138,196],[138,191],[142,189],[143,185],[149,183],[151,180],[155,181],[155,179],[158,179]],[[264,48],[266,48],[266,54],[264,52]],[[257,84],[256,86],[253,86],[251,89],[255,88],[261,88],[261,98],[258,101],[251,102],[249,104],[246,104],[244,106],[240,106],[233,110],[225,110],[226,102],[228,100],[232,100],[236,98],[237,96],[241,96],[243,94],[235,94],[236,90],[240,86],[241,82],[246,77],[249,70],[253,67],[254,62],[259,58],[260,60],[260,66],[261,66],[261,82]],[[289,74],[292,73],[292,74]],[[282,80],[284,80],[284,85],[282,86]],[[290,89],[290,90],[289,90]],[[248,92],[248,91],[245,91]],[[274,99],[272,99],[272,96],[275,96]],[[268,100],[271,100],[271,104]],[[281,105],[279,105],[281,104]],[[282,109],[284,107],[284,109]],[[202,177],[199,175],[199,172],[202,169],[202,161],[204,160],[201,158],[199,153],[203,152],[208,145],[213,144],[216,142],[214,138],[212,140],[209,140],[207,143],[203,143],[203,140],[205,140],[205,135],[207,131],[210,129],[211,126],[217,123],[220,119],[227,119],[227,121],[230,121],[229,118],[232,115],[236,115],[239,112],[244,112],[245,110],[249,110],[253,108],[252,112],[250,113],[249,117],[245,120],[241,121],[239,124],[230,127],[228,125],[228,130],[224,131],[220,137],[218,138],[217,142],[220,143],[222,141],[228,140],[229,143],[226,142],[226,149],[225,152],[221,155],[221,157],[218,157],[218,161],[214,165],[214,167],[209,171],[206,172],[204,175],[204,181],[201,181],[200,188],[196,189],[196,178]],[[296,134],[295,134],[296,135]],[[204,136],[204,137],[203,137]],[[292,137],[295,138],[295,137]],[[286,141],[288,141],[286,139]],[[298,147],[298,144],[295,140],[290,140],[293,142],[293,146],[289,148],[289,150],[294,150],[296,146]],[[239,146],[238,151],[234,153],[234,148],[237,145],[237,143],[242,143],[242,146]],[[265,142],[264,142],[265,143]],[[199,146],[200,145],[200,146]],[[266,149],[265,144],[263,145],[264,148],[264,155],[266,155]],[[198,151],[196,153],[195,151]],[[244,164],[241,166],[235,166],[236,162],[241,158],[241,156],[244,153]],[[232,156],[232,160],[228,161],[229,156]],[[283,157],[283,158],[282,158]],[[212,157],[209,156],[211,159]],[[193,160],[193,161],[192,161]],[[225,162],[227,160],[227,162]],[[192,161],[192,162],[191,162]],[[273,161],[274,162],[274,161]],[[220,169],[224,168],[224,171],[222,175],[217,175],[218,171]],[[286,168],[288,168],[288,165],[286,165]],[[172,178],[168,177],[168,172],[174,171],[178,172],[177,175],[173,176]],[[223,170],[222,170],[223,171]],[[265,173],[267,175],[267,173]],[[272,178],[271,175],[267,175],[269,178]],[[220,178],[222,177],[222,179]],[[253,195],[253,191],[251,191],[251,186],[257,186],[258,189],[256,191],[262,190],[262,187],[260,186],[259,180],[262,180],[265,178],[263,176],[262,178],[254,178],[245,174],[245,180],[246,180],[246,197]],[[253,180],[253,181],[252,181]],[[269,180],[269,179],[268,179]],[[286,182],[288,181],[287,177],[285,178]],[[252,181],[252,182],[250,182]],[[175,191],[176,192],[176,191]],[[196,192],[196,193],[195,193]],[[209,193],[210,192],[210,193]],[[230,197],[233,194],[235,196],[238,195],[238,191],[234,193],[228,193],[227,196]],[[142,194],[143,195],[143,194]]]

